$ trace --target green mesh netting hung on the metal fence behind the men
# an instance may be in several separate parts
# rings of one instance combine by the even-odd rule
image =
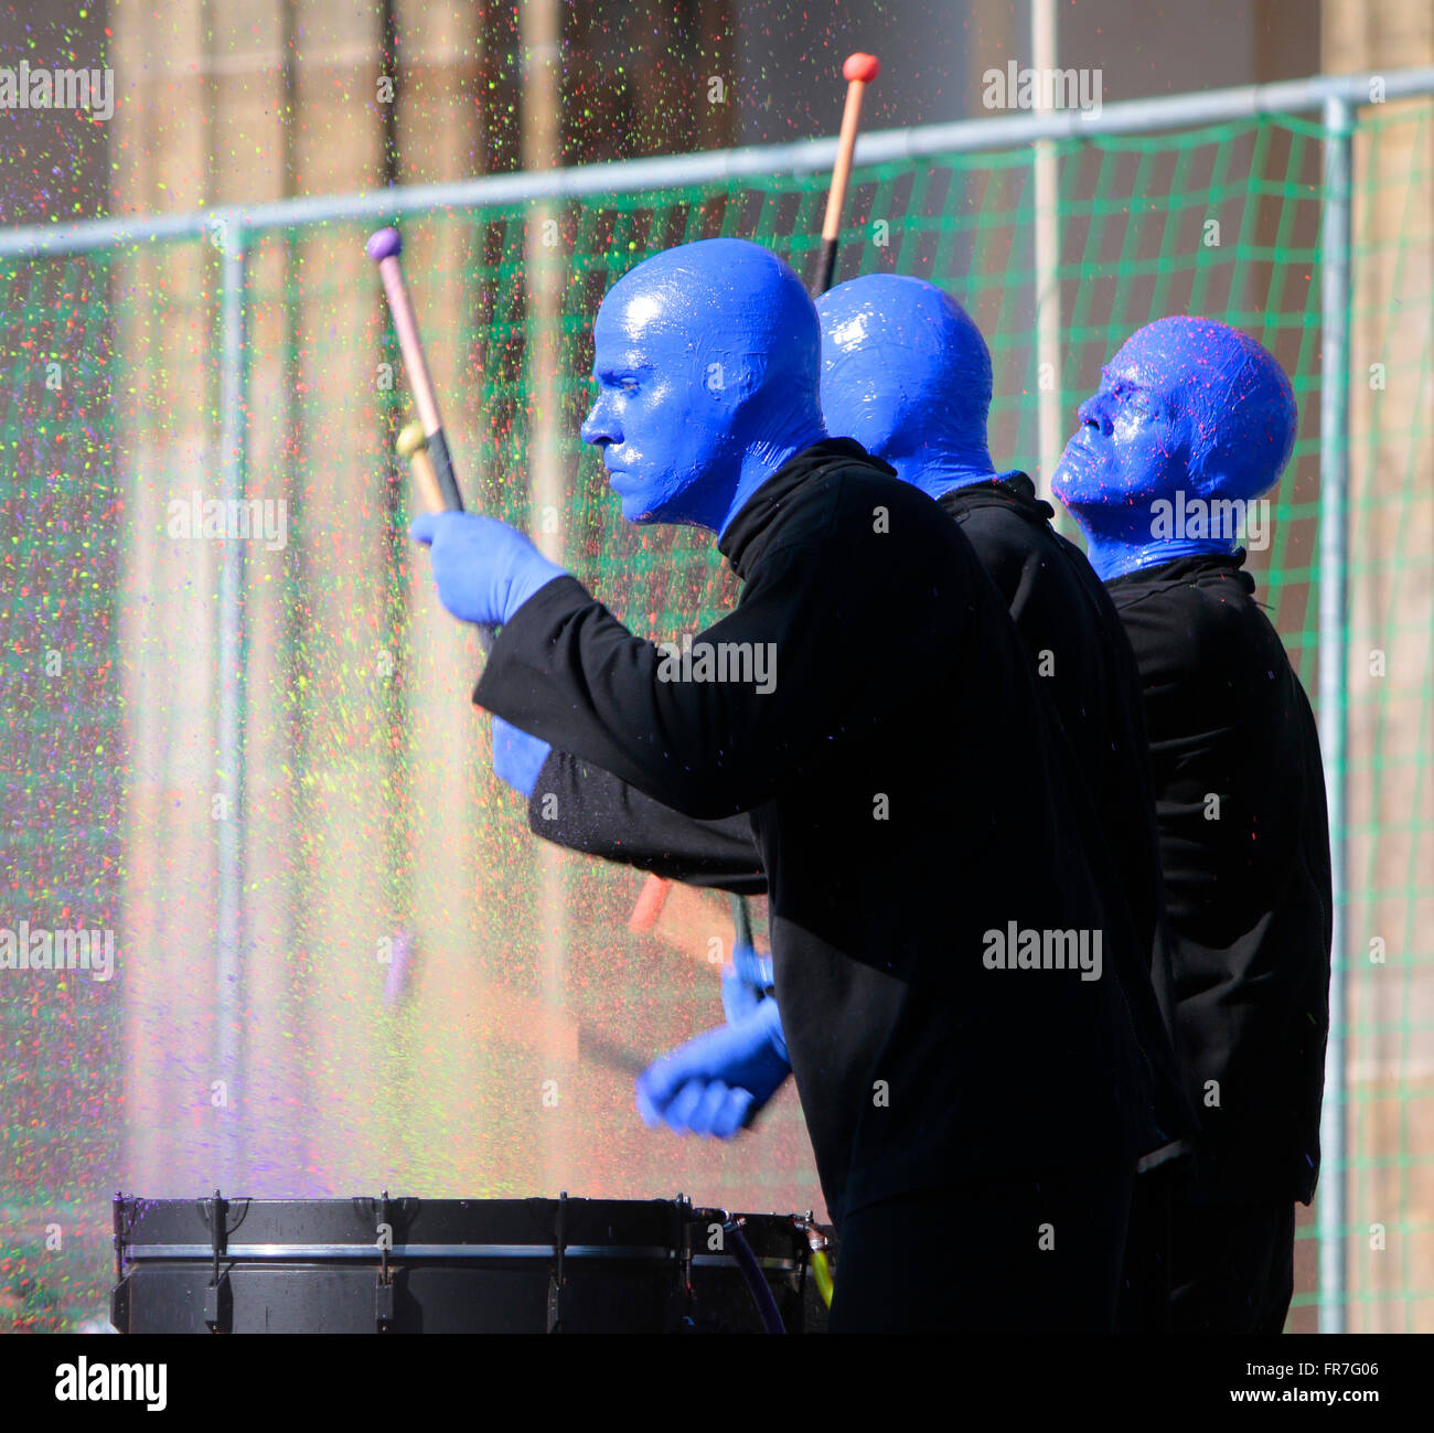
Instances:
[[[1434,105],[1421,100],[1365,112],[1355,135],[1348,1150],[1324,1178],[1348,1191],[1357,1330],[1434,1328],[1431,131]],[[1312,697],[1322,151],[1316,123],[1283,116],[1054,143],[1060,242],[1047,274],[1030,148],[859,169],[837,275],[918,274],[967,306],[992,350],[992,456],[1032,473],[1043,403],[1068,432],[1140,324],[1203,313],[1269,347],[1301,425],[1252,567]],[[707,536],[618,521],[576,438],[592,316],[627,268],[695,238],[754,238],[810,273],[825,197],[825,175],[771,175],[403,224],[470,506],[542,532],[644,634],[701,625],[736,590]],[[11,1258],[40,1290],[59,1269],[36,1235],[47,1209],[87,1201],[99,1229],[100,1196],[119,1182],[205,1189],[235,1125],[254,1193],[684,1189],[731,1208],[819,1205],[790,1094],[760,1139],[700,1149],[641,1130],[627,1077],[584,1053],[592,1031],[640,1054],[670,1047],[718,1018],[716,980],[700,952],[630,935],[631,872],[543,853],[492,779],[486,722],[467,704],[480,657],[436,611],[402,536],[413,498],[387,455],[410,415],[361,258],[367,228],[274,230],[247,251],[247,492],[285,505],[287,541],[247,548],[248,1053],[241,1096],[218,1112],[204,975],[217,703],[232,680],[214,661],[222,545],[175,538],[168,505],[218,492],[219,257],[175,244],[0,274],[14,458],[0,512],[6,907],[57,924],[56,902],[83,882],[72,899],[116,912],[133,963],[93,1010],[0,980],[6,1049],[23,1053],[7,1066],[0,1139],[7,1152],[53,1150],[0,1169],[0,1199],[23,1215]],[[1061,316],[1054,373],[1037,346],[1043,290]],[[76,324],[106,337],[86,349],[85,402],[46,426],[37,354]],[[36,676],[37,654],[63,645],[46,634],[66,623],[93,676],[59,697]],[[26,813],[46,802],[83,819],[36,826]],[[399,961],[407,987],[394,944],[412,951]],[[551,1026],[542,1039],[533,1020]],[[118,1103],[95,1120],[73,1099],[56,1105],[46,1074],[66,1061],[122,1094],[123,1117]],[[1315,1242],[1306,1222],[1295,1328],[1314,1324]],[[72,1318],[108,1280],[99,1257],[76,1268]]]

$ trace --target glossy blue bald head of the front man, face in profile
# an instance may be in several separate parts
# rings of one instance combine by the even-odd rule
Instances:
[[[703,240],[638,264],[602,300],[592,339],[582,440],[602,449],[630,522],[721,532],[826,436],[816,310],[759,244]]]

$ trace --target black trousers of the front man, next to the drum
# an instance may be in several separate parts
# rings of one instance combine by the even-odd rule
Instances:
[[[842,1221],[833,1334],[1114,1327],[1127,1163],[971,1179]]]

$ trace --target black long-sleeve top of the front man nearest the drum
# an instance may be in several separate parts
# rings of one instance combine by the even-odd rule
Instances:
[[[1154,1148],[1116,978],[1129,912],[1101,901],[1060,723],[958,526],[832,439],[720,548],[744,587],[693,647],[771,644],[770,693],[661,680],[658,650],[559,578],[499,635],[475,700],[683,815],[750,812],[833,1218]],[[1100,932],[1101,978],[988,968],[1012,922]]]

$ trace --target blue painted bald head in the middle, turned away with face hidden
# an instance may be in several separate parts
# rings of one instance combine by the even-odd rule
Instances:
[[[994,476],[987,450],[991,353],[948,294],[903,274],[866,274],[816,301],[822,412],[934,498]]]

